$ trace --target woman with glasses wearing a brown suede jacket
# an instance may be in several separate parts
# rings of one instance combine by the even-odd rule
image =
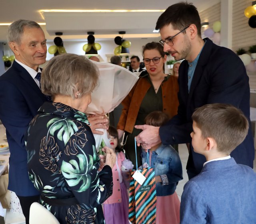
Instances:
[[[164,73],[166,55],[160,43],[147,43],[142,49],[142,55],[147,74],[140,77],[122,101],[124,108],[117,126],[119,138],[126,132],[126,157],[136,164],[137,154],[138,165],[142,165],[140,147],[137,147],[135,153],[134,137],[142,130],[134,128],[134,125],[144,124],[146,116],[153,111],[162,111],[170,118],[176,115],[179,89],[177,78]]]

